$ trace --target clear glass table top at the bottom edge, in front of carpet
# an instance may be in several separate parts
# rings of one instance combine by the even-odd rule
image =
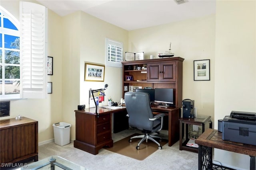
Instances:
[[[79,166],[69,160],[60,156],[50,156],[37,162],[28,164],[27,167],[22,167],[18,170],[85,170],[84,167]]]

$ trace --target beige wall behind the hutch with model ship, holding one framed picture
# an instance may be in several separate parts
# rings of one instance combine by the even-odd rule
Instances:
[[[129,31],[129,52],[150,55],[168,51],[172,42],[175,57],[183,62],[183,99],[195,101],[198,116],[214,120],[215,14],[165,25]],[[210,81],[194,81],[194,60],[210,59]]]

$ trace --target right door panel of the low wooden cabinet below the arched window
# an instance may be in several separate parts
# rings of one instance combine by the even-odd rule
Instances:
[[[13,158],[36,153],[36,123],[13,128]]]

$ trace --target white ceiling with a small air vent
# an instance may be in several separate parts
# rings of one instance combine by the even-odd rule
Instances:
[[[66,16],[81,10],[128,31],[215,13],[216,0],[37,0]]]

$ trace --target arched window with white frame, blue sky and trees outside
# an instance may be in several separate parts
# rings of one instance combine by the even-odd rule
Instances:
[[[0,6],[0,97],[20,96],[19,22]]]

